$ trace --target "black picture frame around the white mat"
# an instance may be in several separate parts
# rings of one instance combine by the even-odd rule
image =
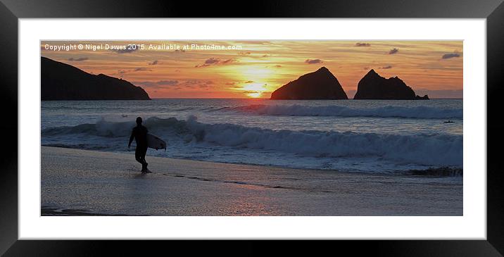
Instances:
[[[4,107],[0,132],[4,135],[0,158],[0,253],[6,256],[89,256],[129,253],[137,244],[118,241],[30,241],[18,240],[18,19],[19,18],[486,18],[487,50],[487,240],[393,240],[330,242],[344,253],[372,253],[377,256],[502,256],[504,253],[504,169],[499,160],[504,144],[500,123],[500,101],[504,93],[504,4],[502,0],[424,0],[424,1],[34,1],[1,0],[0,4],[0,102]],[[468,108],[470,106],[465,106]],[[5,121],[8,122],[5,122]],[[14,137],[16,134],[17,137]],[[5,136],[8,135],[8,136]],[[144,253],[162,241],[143,242]],[[268,253],[301,253],[302,244],[286,242],[234,242],[237,255],[260,254],[265,244],[275,246]],[[322,246],[303,250],[322,254]],[[327,245],[328,242],[325,242]],[[177,243],[179,244],[179,243]],[[198,242],[187,254],[223,251],[218,242]],[[229,249],[229,244],[226,246]],[[145,250],[149,249],[149,250]],[[71,254],[70,254],[71,253]],[[225,252],[223,252],[225,253]],[[237,253],[237,252],[234,252]],[[231,252],[233,254],[233,252]]]

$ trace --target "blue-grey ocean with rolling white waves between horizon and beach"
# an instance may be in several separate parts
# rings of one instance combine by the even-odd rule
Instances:
[[[168,149],[149,156],[357,173],[462,169],[462,99],[42,101],[42,145],[133,153],[134,120]],[[452,120],[454,123],[444,123]],[[132,157],[133,158],[133,157]],[[418,174],[418,173],[415,173]]]

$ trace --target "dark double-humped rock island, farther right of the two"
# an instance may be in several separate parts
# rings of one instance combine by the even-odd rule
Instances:
[[[415,100],[429,99],[429,96],[416,96],[411,87],[398,77],[384,78],[374,70],[370,70],[357,86],[353,99],[386,99],[386,100]]]

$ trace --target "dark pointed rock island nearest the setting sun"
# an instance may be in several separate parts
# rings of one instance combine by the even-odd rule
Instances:
[[[271,94],[271,99],[348,99],[339,81],[322,67],[284,84]]]

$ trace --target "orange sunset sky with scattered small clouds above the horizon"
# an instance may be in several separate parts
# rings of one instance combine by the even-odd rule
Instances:
[[[52,49],[79,44],[144,44],[144,49]],[[183,49],[191,44],[226,49]],[[73,41],[41,42],[41,54],[88,73],[122,77],[151,98],[269,98],[322,66],[349,98],[370,69],[400,77],[419,95],[462,98],[462,41]]]

